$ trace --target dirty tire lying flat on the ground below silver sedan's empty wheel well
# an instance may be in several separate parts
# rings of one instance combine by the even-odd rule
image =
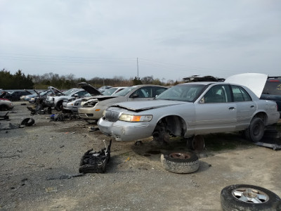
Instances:
[[[198,157],[191,152],[162,154],[161,162],[165,170],[178,174],[196,172],[199,168]]]

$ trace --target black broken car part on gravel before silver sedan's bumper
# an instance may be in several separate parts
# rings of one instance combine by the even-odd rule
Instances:
[[[98,152],[93,151],[93,148],[86,151],[81,158],[79,173],[104,173],[107,164],[110,162],[111,142],[112,139],[110,139],[107,147],[105,146],[105,148]]]

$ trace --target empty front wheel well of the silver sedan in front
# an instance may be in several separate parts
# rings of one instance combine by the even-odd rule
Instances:
[[[186,131],[185,121],[176,115],[163,117],[157,122],[158,124],[164,124],[165,129],[174,136],[183,136]]]

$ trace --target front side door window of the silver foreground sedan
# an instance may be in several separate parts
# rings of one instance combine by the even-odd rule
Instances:
[[[200,103],[228,103],[231,102],[231,94],[228,85],[216,85],[211,87]]]

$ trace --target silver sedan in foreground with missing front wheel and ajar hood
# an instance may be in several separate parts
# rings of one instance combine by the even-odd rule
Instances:
[[[267,75],[261,78],[263,84],[266,79]],[[237,131],[244,131],[251,141],[260,141],[265,127],[279,120],[277,105],[256,95],[263,89],[258,79],[252,81],[259,88],[256,94],[231,81],[178,84],[152,101],[116,103],[105,110],[98,128],[117,141],[153,136],[168,142],[170,136]]]

